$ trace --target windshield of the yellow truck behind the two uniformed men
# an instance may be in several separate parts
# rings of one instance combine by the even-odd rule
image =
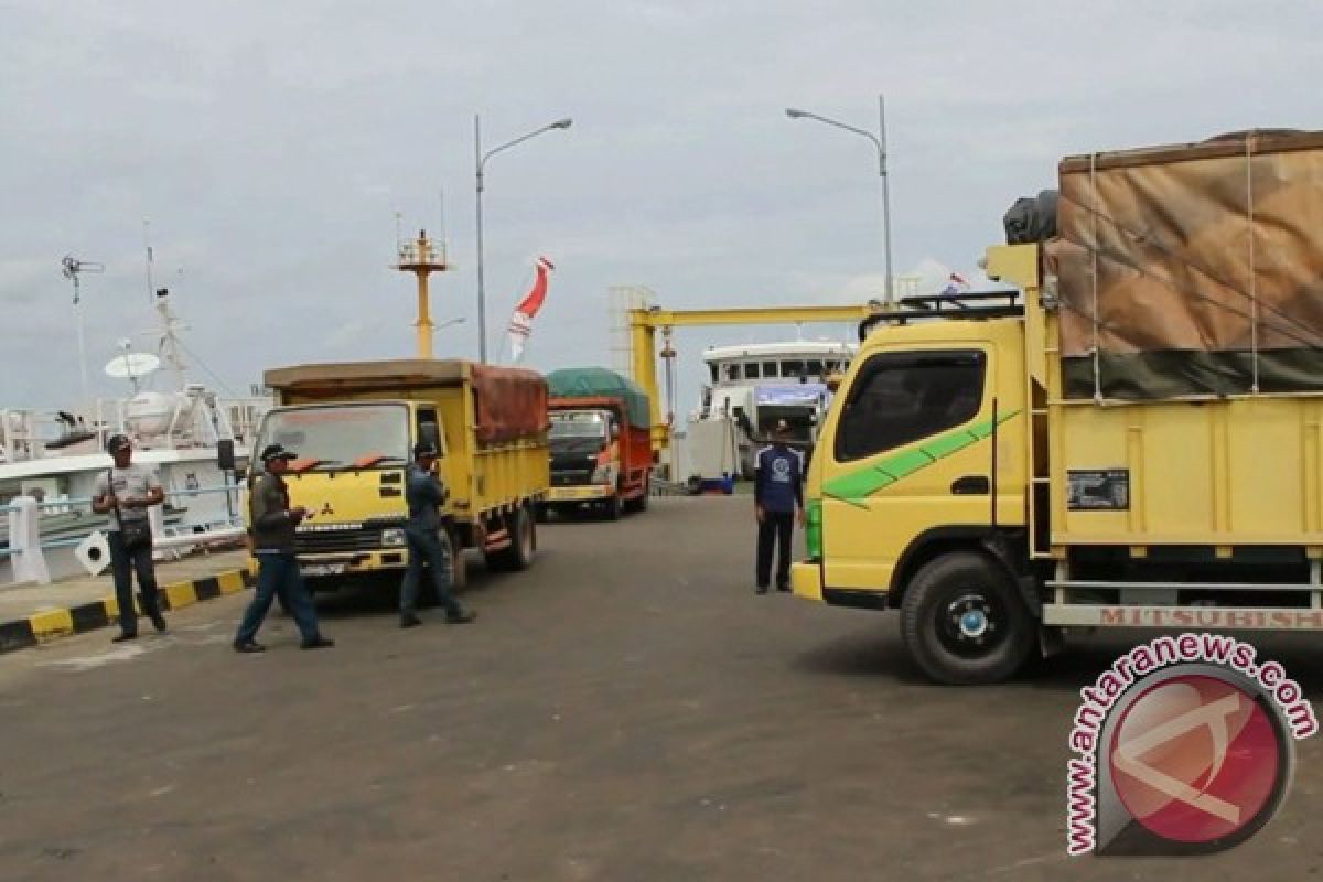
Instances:
[[[277,409],[266,415],[258,443],[282,444],[314,468],[394,465],[409,456],[409,413],[404,405],[333,405]]]

